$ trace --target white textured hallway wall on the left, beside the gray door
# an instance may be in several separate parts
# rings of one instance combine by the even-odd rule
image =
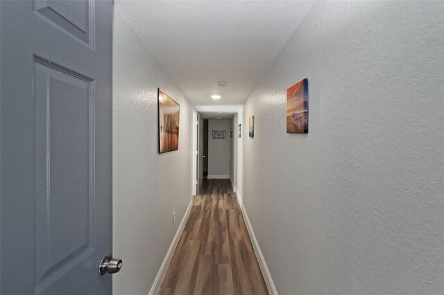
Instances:
[[[123,269],[113,293],[148,294],[191,200],[192,109],[116,10],[113,252]],[[180,104],[179,150],[166,154],[157,152],[157,87]]]

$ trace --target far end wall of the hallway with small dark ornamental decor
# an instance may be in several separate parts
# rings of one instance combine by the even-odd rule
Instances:
[[[230,119],[208,120],[208,177],[230,177]],[[214,139],[213,130],[225,130],[225,138]]]

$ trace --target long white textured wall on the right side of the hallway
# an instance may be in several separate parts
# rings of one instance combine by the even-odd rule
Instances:
[[[279,294],[442,294],[443,17],[315,3],[248,98],[244,205]],[[287,134],[302,78],[309,134]]]

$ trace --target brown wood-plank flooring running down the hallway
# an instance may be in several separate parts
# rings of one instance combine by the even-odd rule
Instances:
[[[159,294],[268,294],[229,179],[194,197]]]

